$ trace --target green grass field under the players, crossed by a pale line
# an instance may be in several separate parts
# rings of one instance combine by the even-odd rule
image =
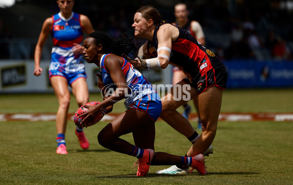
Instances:
[[[226,90],[222,112],[293,113],[293,90]],[[90,94],[90,101],[101,101]],[[55,113],[54,94],[0,94],[0,114]],[[77,109],[74,97],[70,113]],[[122,103],[114,112],[124,111]],[[145,177],[136,177],[136,158],[112,152],[97,141],[107,124],[86,128],[88,150],[80,148],[74,123],[66,132],[68,155],[57,155],[54,121],[1,121],[0,184],[293,184],[293,122],[220,121],[206,158],[208,175],[158,175],[169,166],[150,166]],[[196,126],[196,122],[191,122]],[[200,132],[200,131],[199,131]],[[123,139],[133,143],[132,135]],[[185,155],[189,141],[163,121],[156,122],[156,151]]]

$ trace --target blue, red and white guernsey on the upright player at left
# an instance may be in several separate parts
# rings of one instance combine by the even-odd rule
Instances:
[[[77,67],[77,64],[84,64],[81,54],[74,54],[72,47],[74,44],[82,44],[84,32],[80,20],[80,14],[72,12],[68,19],[61,13],[52,16],[53,23],[51,35],[53,48],[51,52],[50,69],[63,73],[83,72],[84,66]]]

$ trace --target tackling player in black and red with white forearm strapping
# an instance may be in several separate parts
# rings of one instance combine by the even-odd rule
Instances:
[[[202,46],[185,29],[165,23],[160,13],[152,6],[143,6],[134,15],[134,35],[147,39],[141,46],[137,60],[129,62],[138,69],[165,69],[168,64],[183,69],[188,78],[176,85],[188,85],[189,90],[171,89],[162,98],[161,118],[179,133],[186,136],[193,145],[186,156],[203,154],[211,145],[217,131],[226,89],[227,70],[215,54]],[[176,89],[175,89],[176,90]],[[181,95],[181,99],[174,98]],[[189,99],[183,98],[189,96]],[[178,107],[198,97],[202,134],[193,129],[188,119],[176,111]]]

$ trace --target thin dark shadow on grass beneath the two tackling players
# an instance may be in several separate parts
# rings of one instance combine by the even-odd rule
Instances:
[[[260,173],[255,173],[255,172],[211,172],[208,173],[206,176],[209,175],[257,175]],[[184,176],[202,176],[200,174],[196,174],[196,173],[191,173],[191,174],[177,174],[176,177],[184,177]],[[148,173],[146,176],[144,176],[145,178],[151,178],[151,177],[174,177],[174,175],[171,174],[156,174],[156,173]],[[98,176],[96,178],[142,178],[142,177],[138,177],[136,176],[135,173],[131,173],[131,174],[124,174],[124,175],[109,175],[109,176]]]

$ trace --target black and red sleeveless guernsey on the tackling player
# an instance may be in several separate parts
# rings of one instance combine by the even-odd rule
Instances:
[[[147,50],[153,57],[157,57],[158,38],[157,32],[164,24],[155,27],[152,42],[147,42]],[[172,42],[170,63],[183,67],[183,70],[191,76],[203,76],[209,69],[221,65],[220,60],[213,60],[216,56],[207,48],[202,46],[197,40],[180,26],[175,26],[179,30],[178,38]]]

